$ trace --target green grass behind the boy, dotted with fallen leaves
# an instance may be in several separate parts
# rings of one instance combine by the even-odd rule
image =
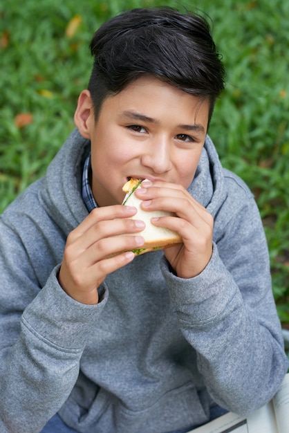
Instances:
[[[256,196],[279,317],[289,328],[288,1],[0,0],[0,212],[44,174],[73,129],[93,32],[118,12],[157,5],[198,9],[212,20],[227,86],[209,134],[223,165]],[[73,19],[80,24],[68,36]],[[25,127],[17,126],[21,113],[32,115]]]

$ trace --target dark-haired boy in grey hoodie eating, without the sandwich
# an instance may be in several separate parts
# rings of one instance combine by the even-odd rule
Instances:
[[[77,129],[1,217],[0,430],[187,432],[247,414],[288,362],[257,206],[207,136],[224,85],[209,27],[131,10],[91,52]],[[182,244],[133,255],[131,176]]]

